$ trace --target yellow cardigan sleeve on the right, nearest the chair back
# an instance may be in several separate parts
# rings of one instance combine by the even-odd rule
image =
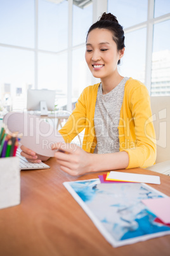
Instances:
[[[156,143],[155,131],[150,108],[150,96],[145,85],[137,87],[129,101],[134,124],[134,147],[125,149],[129,155],[127,169],[148,167],[155,163]]]

